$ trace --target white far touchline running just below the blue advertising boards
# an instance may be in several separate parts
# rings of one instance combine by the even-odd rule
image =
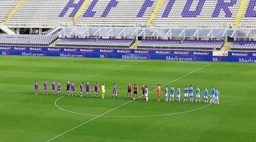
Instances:
[[[19,55],[17,55],[19,56]],[[40,56],[40,58],[38,57],[26,57],[26,56],[20,56],[20,57],[17,57],[17,56],[4,56],[4,57],[9,57],[9,58],[34,58],[34,59],[61,59],[61,60],[99,60],[99,61],[102,61],[100,60],[100,58],[96,58],[96,59],[90,59],[90,58],[69,58],[69,57],[66,57],[66,58],[61,58],[61,57],[55,57],[55,58],[48,58],[48,57],[43,57],[43,56]],[[1,57],[1,56],[0,56]],[[106,60],[107,59],[107,60]],[[113,58],[105,58],[103,59],[103,61],[127,61],[127,62],[147,62],[149,60],[109,60],[109,59],[113,59]],[[174,61],[174,60],[160,60],[160,61],[165,61],[163,63],[180,63],[180,64],[208,64],[208,63],[202,63],[202,62],[208,62],[208,61],[196,61],[197,63],[193,63],[193,62],[168,62],[168,61]],[[153,62],[153,63],[159,63],[159,61],[152,61],[150,60],[150,62]],[[210,61],[211,62],[211,61]],[[234,63],[234,62],[230,62],[230,63]],[[239,62],[237,62],[239,63]],[[253,64],[221,64],[221,63],[211,63],[211,64],[214,64],[214,65],[242,65],[242,66],[256,66],[256,65],[253,65]]]

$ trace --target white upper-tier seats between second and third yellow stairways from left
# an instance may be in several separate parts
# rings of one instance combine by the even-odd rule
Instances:
[[[106,17],[101,17],[110,0],[98,0],[96,4],[92,4],[97,0],[90,0],[86,5],[84,11],[77,19],[77,25],[83,25],[83,23],[96,23],[98,25],[107,24],[120,24],[125,26],[127,24],[146,24],[151,13],[154,11],[158,0],[151,0],[154,2],[151,7],[147,7],[142,17],[137,17],[140,9],[142,8],[145,0],[116,0],[116,7],[112,7]],[[148,1],[146,1],[148,2]],[[95,11],[93,17],[84,17],[89,6],[94,6],[91,11]],[[89,14],[87,14],[89,15]]]

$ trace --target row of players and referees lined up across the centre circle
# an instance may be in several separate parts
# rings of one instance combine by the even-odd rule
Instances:
[[[55,90],[56,90],[56,85],[57,85],[57,93],[58,93],[58,96],[62,96],[61,95],[61,84],[60,82],[58,82],[56,84],[55,80],[52,81],[52,95],[55,95]],[[39,88],[39,84],[35,81],[35,95],[38,94],[38,88]],[[91,90],[91,84],[87,81],[86,84],[86,97],[88,97],[88,94],[89,94],[89,97],[91,96],[91,93],[90,93],[90,90]],[[48,81],[45,80],[45,82],[43,83],[43,95],[44,95],[44,92],[46,95],[47,94],[47,87],[48,87]],[[70,89],[71,89],[71,96],[73,96],[73,93],[75,96],[76,95],[76,89],[75,89],[75,84],[74,82],[69,82],[67,81],[66,83],[66,91],[68,93],[68,96],[70,96]],[[79,89],[80,89],[80,96],[83,97],[83,90],[84,90],[84,83],[80,83],[79,84]],[[117,91],[116,91],[116,83],[114,84],[113,86],[113,95],[112,95],[112,98],[114,99],[114,96],[116,96],[116,99],[118,99],[117,97]],[[133,100],[137,100],[138,99],[138,86],[136,84],[134,84],[133,86],[133,94],[132,94],[132,86],[131,84],[129,83],[129,85],[127,86],[127,96],[126,98],[128,98],[129,94],[130,94],[130,98],[132,98]],[[98,91],[99,91],[99,84],[96,82],[94,85],[93,85],[93,90],[94,90],[94,96],[93,97],[98,97]],[[141,87],[141,90],[142,90],[142,95],[143,95],[143,99],[145,99],[146,101],[148,101],[148,87],[147,85],[145,86],[144,84],[142,84],[142,87]],[[161,96],[161,87],[159,86],[159,84],[157,84],[157,89],[155,90],[157,92],[157,96],[158,96],[158,99],[157,101],[159,102],[160,101],[160,96]],[[186,88],[184,89],[184,99],[182,102],[188,102],[188,94],[189,94],[189,98],[190,98],[190,101],[189,102],[193,102],[193,91],[194,91],[194,88],[192,87],[192,85],[189,85],[189,88],[188,86],[186,86]],[[101,86],[101,93],[102,93],[102,98],[104,99],[105,97],[105,93],[106,93],[106,90],[105,90],[105,83],[102,84]],[[175,89],[173,88],[173,86],[171,87],[171,92],[170,92],[170,100],[169,102],[173,102],[174,101],[174,93],[175,93]],[[177,87],[177,90],[176,90],[176,98],[177,98],[177,101],[176,102],[180,102],[180,87]],[[133,95],[133,97],[132,97]],[[220,95],[220,92],[218,91],[218,89],[214,89],[214,87],[212,86],[212,89],[211,89],[211,100],[209,103],[216,103],[216,104],[219,104],[219,95]],[[164,89],[164,96],[165,96],[165,102],[168,102],[168,88],[167,86],[165,85],[165,89]],[[197,99],[199,99],[199,103],[201,103],[201,98],[200,98],[200,89],[199,89],[199,86],[196,87],[196,103],[197,103]],[[204,88],[204,103],[208,103],[208,90],[207,88],[205,87]]]

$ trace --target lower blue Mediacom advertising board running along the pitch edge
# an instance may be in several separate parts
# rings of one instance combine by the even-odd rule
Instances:
[[[56,52],[56,51],[22,51],[0,50],[1,55],[21,56],[53,56],[53,57],[78,57],[78,58],[115,58],[115,59],[142,59],[142,60],[186,60],[186,61],[228,61],[228,62],[253,62],[256,57],[247,56],[203,56],[203,55],[166,55],[146,53],[84,53],[84,52]]]

